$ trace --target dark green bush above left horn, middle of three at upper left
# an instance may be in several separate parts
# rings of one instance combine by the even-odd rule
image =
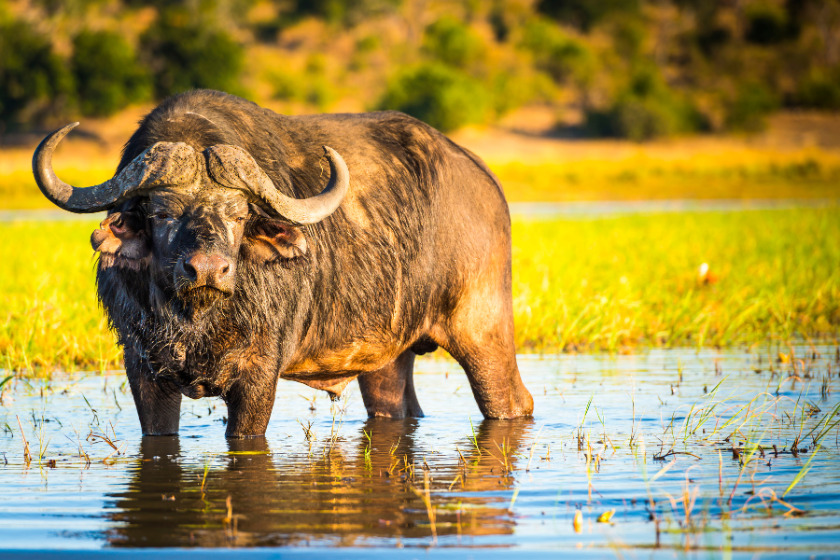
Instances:
[[[76,35],[71,67],[85,115],[111,115],[151,95],[151,77],[118,33],[82,31]]]

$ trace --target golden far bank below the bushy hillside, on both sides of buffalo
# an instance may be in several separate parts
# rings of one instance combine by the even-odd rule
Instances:
[[[479,138],[459,140],[487,160],[511,202],[840,200],[840,152],[836,150],[755,147],[731,138],[652,144],[529,141],[503,134]],[[493,139],[498,142],[494,144]],[[30,149],[0,153],[3,209],[53,208],[35,186],[31,157]],[[56,154],[54,165],[63,180],[91,185],[110,178],[118,159],[117,145],[103,148],[68,142]]]

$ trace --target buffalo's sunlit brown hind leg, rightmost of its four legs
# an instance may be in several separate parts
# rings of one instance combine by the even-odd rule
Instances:
[[[444,329],[447,340],[441,345],[464,368],[485,418],[517,418],[534,411],[516,365],[512,307],[510,281],[495,287],[487,282],[461,299]]]

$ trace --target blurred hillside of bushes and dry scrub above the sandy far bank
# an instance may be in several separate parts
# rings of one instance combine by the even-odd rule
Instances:
[[[840,109],[836,0],[6,0],[0,53],[7,134],[202,87],[631,140]]]

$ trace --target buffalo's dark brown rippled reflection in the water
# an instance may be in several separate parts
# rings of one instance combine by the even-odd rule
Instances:
[[[498,492],[513,484],[530,427],[485,420],[474,441],[465,436],[469,447],[424,457],[417,420],[373,418],[328,455],[290,459],[273,455],[265,438],[231,439],[223,468],[207,470],[185,464],[177,436],[147,437],[127,489],[112,495],[106,538],[119,547],[426,543],[424,475],[439,539],[510,534],[509,497]]]

